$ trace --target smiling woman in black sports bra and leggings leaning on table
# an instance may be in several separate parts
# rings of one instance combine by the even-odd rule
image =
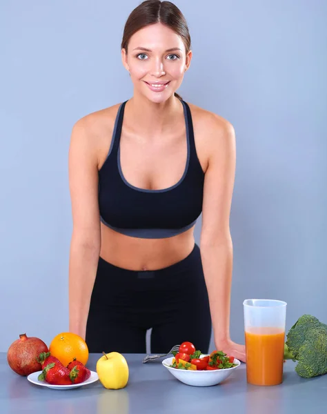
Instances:
[[[174,4],[133,10],[121,56],[133,97],[72,130],[70,332],[96,353],[145,353],[148,328],[152,353],[207,353],[213,327],[217,349],[245,361],[229,334],[234,130],[175,92],[192,51]]]

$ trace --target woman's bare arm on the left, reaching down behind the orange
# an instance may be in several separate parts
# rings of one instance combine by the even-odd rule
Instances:
[[[77,121],[69,150],[72,239],[69,262],[69,331],[85,339],[100,254],[98,160],[88,120]]]

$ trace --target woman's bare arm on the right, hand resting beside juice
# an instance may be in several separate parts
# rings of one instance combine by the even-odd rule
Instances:
[[[230,339],[232,238],[229,221],[235,180],[235,131],[228,121],[215,115],[208,124],[208,148],[200,248],[212,328],[217,349],[245,361],[245,346]]]

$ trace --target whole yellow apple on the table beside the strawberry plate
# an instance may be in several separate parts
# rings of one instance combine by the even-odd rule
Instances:
[[[128,383],[128,364],[126,359],[118,352],[103,352],[97,361],[97,374],[99,381],[108,389],[118,390]]]

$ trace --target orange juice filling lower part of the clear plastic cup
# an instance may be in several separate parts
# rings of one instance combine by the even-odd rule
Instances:
[[[246,379],[254,385],[277,385],[283,380],[285,332],[280,328],[248,328]]]

